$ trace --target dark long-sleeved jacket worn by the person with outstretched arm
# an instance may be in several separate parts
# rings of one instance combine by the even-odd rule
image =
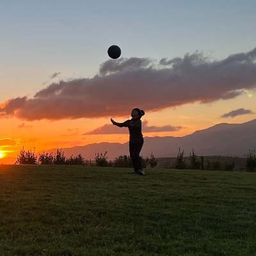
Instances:
[[[140,118],[132,118],[126,120],[124,123],[115,123],[118,127],[128,127],[130,138],[129,142],[143,143],[143,135],[141,132],[141,120]]]

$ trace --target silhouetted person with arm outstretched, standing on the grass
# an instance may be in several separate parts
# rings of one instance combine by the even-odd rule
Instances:
[[[141,132],[141,116],[145,115],[145,111],[139,108],[132,109],[131,116],[132,119],[126,120],[124,123],[115,122],[112,118],[110,119],[113,125],[118,127],[128,127],[129,129],[129,152],[131,156],[132,165],[134,172],[132,174],[138,173],[139,175],[145,175],[141,165],[140,152],[143,147],[143,135]]]

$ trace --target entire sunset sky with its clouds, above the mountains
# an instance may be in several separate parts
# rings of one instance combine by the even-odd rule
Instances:
[[[256,118],[255,1],[0,1],[0,163]],[[122,55],[108,56],[118,45]],[[145,146],[144,146],[145,147]],[[86,157],[86,156],[85,156]]]

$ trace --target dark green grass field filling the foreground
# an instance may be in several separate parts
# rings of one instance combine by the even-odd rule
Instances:
[[[0,255],[256,255],[256,173],[0,166]]]

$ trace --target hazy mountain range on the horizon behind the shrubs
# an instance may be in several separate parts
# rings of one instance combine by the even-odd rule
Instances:
[[[244,157],[249,150],[256,149],[256,119],[243,124],[217,124],[196,131],[184,137],[145,137],[141,156],[176,157],[179,148],[184,156],[189,156],[193,148],[198,156],[237,156]],[[129,143],[93,143],[85,146],[63,148],[66,156],[82,154],[86,159],[94,159],[95,154],[108,151],[108,159],[129,155]],[[56,152],[55,149],[45,150]]]

